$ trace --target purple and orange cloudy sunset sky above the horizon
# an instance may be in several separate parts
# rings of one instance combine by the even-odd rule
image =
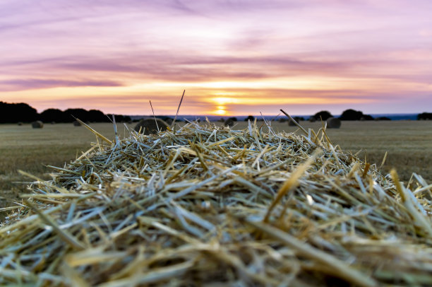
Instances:
[[[1,0],[0,40],[38,112],[432,112],[429,0]]]

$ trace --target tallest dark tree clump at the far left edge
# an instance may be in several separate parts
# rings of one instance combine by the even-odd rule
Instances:
[[[33,122],[37,119],[37,110],[23,102],[0,102],[0,123]]]

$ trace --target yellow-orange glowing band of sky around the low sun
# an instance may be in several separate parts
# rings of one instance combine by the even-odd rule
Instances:
[[[291,78],[290,83],[293,83],[294,79],[295,77]],[[374,95],[385,93],[388,87],[385,81],[379,79],[366,81],[365,78],[356,78],[350,81],[341,81],[340,78],[320,78],[320,81],[322,83],[320,86],[312,85],[311,88],[301,87],[302,85],[294,85],[295,88],[278,86],[282,85],[280,78],[278,81],[272,78],[261,79],[252,87],[247,87],[246,81],[219,82],[224,83],[223,85],[215,84],[215,86],[228,88],[208,88],[207,83],[210,82],[188,83],[191,86],[182,86],[185,83],[174,81],[133,83],[131,81],[124,86],[59,86],[0,91],[0,96],[2,97],[1,100],[6,102],[17,102],[16,99],[19,98],[20,102],[29,103],[36,107],[39,112],[52,107],[61,110],[66,110],[69,107],[83,107],[88,110],[96,109],[106,113],[113,112],[124,115],[151,115],[148,100],[152,100],[156,114],[174,115],[176,102],[181,97],[181,90],[186,88],[180,114],[235,116],[257,114],[264,111],[266,107],[283,105],[310,105],[311,107],[314,105],[351,105],[349,108],[355,108],[358,105],[379,102],[380,99]],[[340,82],[344,83],[338,87]],[[238,86],[235,86],[234,83],[237,83]],[[300,81],[300,83],[306,82]],[[315,83],[318,84],[318,81]],[[426,86],[430,88],[430,86]],[[393,84],[393,87],[400,90],[424,90],[425,85],[412,85],[412,83],[404,82]],[[333,93],[333,90],[338,91],[338,93]],[[347,95],[341,93],[341,90],[347,90]],[[61,105],[59,105],[60,102]],[[277,108],[275,113],[277,113]]]

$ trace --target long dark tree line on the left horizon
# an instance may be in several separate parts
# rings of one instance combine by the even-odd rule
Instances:
[[[129,122],[131,117],[124,115],[114,115],[117,122]],[[37,113],[37,110],[30,105],[20,103],[0,102],[0,123],[17,122],[74,122],[80,119],[83,122],[110,122],[112,115],[105,115],[100,110],[85,109],[47,109]]]

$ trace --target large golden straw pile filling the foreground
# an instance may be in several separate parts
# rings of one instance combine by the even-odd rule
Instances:
[[[302,131],[94,131],[9,207],[0,285],[430,286],[431,185]]]

